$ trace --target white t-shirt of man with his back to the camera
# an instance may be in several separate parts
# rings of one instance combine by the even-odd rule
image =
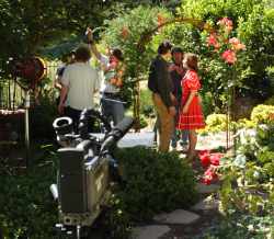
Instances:
[[[66,104],[76,110],[93,109],[94,92],[100,88],[98,71],[89,62],[75,62],[66,67],[61,83],[68,87]]]

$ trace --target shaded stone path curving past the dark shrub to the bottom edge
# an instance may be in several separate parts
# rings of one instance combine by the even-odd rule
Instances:
[[[210,217],[210,214],[218,213],[219,201],[212,195],[218,189],[215,184],[197,184],[202,200],[196,205],[189,210],[175,209],[156,215],[152,225],[134,228],[133,239],[191,239],[187,237],[191,227],[201,227],[203,217],[208,218],[208,215]]]

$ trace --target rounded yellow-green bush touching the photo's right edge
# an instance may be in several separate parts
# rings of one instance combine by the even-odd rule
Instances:
[[[274,114],[273,105],[260,104],[253,109],[251,113],[251,121],[256,124],[270,123],[272,121],[271,114]]]

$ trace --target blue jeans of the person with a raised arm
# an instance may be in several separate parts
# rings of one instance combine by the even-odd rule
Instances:
[[[109,120],[113,121],[114,125],[124,118],[125,107],[124,103],[117,98],[103,95],[101,99],[102,114]]]

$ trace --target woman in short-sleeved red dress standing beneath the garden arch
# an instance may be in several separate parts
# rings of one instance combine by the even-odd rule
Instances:
[[[178,129],[189,130],[189,160],[193,160],[196,155],[195,147],[197,143],[197,135],[195,129],[205,127],[201,98],[198,95],[201,83],[197,75],[197,61],[196,55],[185,54],[183,64],[187,71],[182,80],[182,106],[176,126]]]

